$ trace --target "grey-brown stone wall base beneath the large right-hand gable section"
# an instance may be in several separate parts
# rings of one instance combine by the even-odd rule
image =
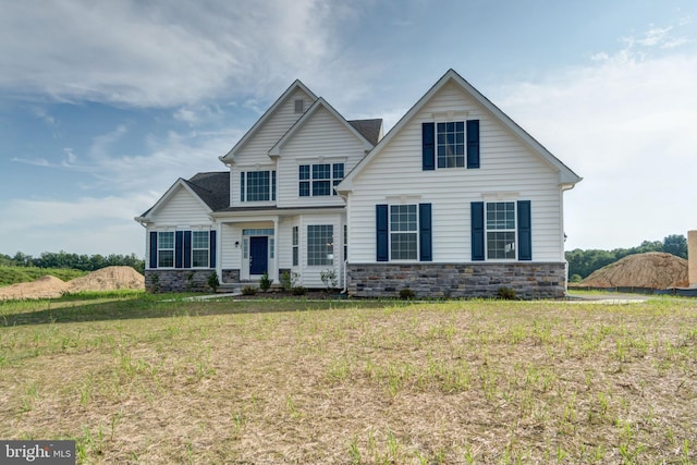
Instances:
[[[347,264],[348,295],[396,297],[409,287],[416,297],[496,297],[511,287],[519,298],[560,298],[566,264]]]

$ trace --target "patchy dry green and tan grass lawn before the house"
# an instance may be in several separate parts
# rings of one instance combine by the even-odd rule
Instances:
[[[0,303],[0,438],[78,463],[695,463],[697,302]]]

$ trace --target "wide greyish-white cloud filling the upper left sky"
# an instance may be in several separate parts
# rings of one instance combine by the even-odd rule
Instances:
[[[0,89],[136,107],[265,94],[320,70],[348,10],[322,0],[7,2]]]

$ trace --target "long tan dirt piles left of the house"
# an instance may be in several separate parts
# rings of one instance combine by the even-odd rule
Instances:
[[[0,287],[0,301],[56,298],[66,292],[145,289],[145,278],[131,267],[107,267],[68,282],[45,276],[33,282]]]

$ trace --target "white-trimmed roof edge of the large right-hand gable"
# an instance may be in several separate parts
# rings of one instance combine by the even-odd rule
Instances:
[[[479,90],[474,88],[472,84],[465,81],[454,70],[448,70],[443,76],[438,79],[436,84],[409,109],[409,111],[402,117],[402,119],[382,137],[378,145],[365,156],[343,181],[337,186],[337,192],[347,192],[353,188],[353,180],[370,163],[370,160],[376,158],[382,149],[390,144],[390,140],[399,134],[404,126],[417,114],[426,103],[448,83],[455,83],[460,88],[472,97],[481,108],[487,110],[494,120],[500,122],[503,126],[515,134],[529,149],[538,154],[546,162],[557,169],[559,174],[559,183],[574,185],[583,178],[574,173],[568,167],[562,163],[557,157],[554,157],[547,148],[545,148],[539,142],[530,136],[525,130],[523,130],[517,123],[515,123],[509,115],[506,115],[501,109],[493,105],[488,98],[486,98]]]

